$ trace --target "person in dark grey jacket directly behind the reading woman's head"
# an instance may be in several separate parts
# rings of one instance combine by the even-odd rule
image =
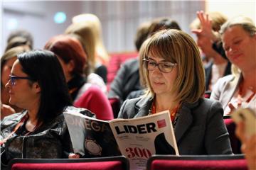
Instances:
[[[156,18],[151,22],[142,23],[137,29],[137,37],[135,45],[139,51],[142,42],[149,36],[163,29],[178,29],[178,23],[171,18]],[[139,44],[139,45],[138,45]],[[128,60],[122,64],[117,72],[117,76],[111,84],[109,97],[119,96],[120,103],[125,99],[136,98],[144,94],[144,77],[140,73],[139,57],[137,59]]]

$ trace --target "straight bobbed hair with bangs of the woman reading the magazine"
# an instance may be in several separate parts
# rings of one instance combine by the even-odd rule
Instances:
[[[177,63],[178,77],[172,91],[178,91],[176,101],[193,103],[205,92],[205,73],[203,62],[196,42],[190,35],[181,30],[161,30],[147,39],[139,52],[140,67],[142,59],[148,55],[162,57],[166,61]],[[143,70],[147,94],[154,97],[154,90],[149,81],[149,72]]]

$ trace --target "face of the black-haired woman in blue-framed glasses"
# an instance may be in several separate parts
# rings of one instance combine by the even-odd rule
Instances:
[[[14,77],[28,77],[22,71],[21,64],[16,60],[13,68],[11,69],[11,76]],[[36,99],[40,97],[40,88],[36,83],[30,84],[28,79],[14,79],[14,84],[9,80],[6,88],[9,90],[9,103],[18,106],[19,108],[28,109],[34,106]]]

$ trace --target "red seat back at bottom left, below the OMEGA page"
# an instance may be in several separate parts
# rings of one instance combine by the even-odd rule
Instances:
[[[10,170],[128,170],[124,156],[87,159],[13,159]]]

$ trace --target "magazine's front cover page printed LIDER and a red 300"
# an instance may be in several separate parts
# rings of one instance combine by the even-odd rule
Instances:
[[[152,154],[176,154],[178,147],[169,111],[133,119],[115,119],[110,127],[131,169],[146,169]]]

